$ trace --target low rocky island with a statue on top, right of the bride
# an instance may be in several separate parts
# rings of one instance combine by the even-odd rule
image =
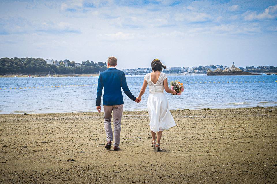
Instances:
[[[224,70],[222,70],[221,68],[217,68],[214,71],[208,70],[207,75],[257,75],[257,74],[244,72],[241,69],[237,68],[233,63],[233,65],[230,68],[225,68]]]

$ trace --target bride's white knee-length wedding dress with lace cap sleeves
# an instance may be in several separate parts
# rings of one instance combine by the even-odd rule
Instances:
[[[175,121],[169,112],[169,106],[166,96],[164,95],[164,79],[167,75],[161,72],[156,84],[151,81],[151,74],[144,76],[149,85],[149,97],[147,109],[150,119],[150,130],[153,132],[168,130],[175,126]]]

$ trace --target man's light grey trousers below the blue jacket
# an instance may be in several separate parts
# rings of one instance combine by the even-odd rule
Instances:
[[[111,126],[113,112],[113,125],[114,132]],[[123,104],[115,106],[104,106],[104,127],[107,135],[107,141],[113,141],[113,133],[115,137],[114,146],[118,146],[120,143],[120,131],[121,131],[121,118],[123,112]]]

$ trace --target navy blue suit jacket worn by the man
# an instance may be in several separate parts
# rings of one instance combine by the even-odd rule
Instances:
[[[121,88],[131,100],[136,100],[136,97],[132,95],[127,86],[124,72],[117,70],[116,68],[108,68],[108,70],[100,73],[96,94],[96,106],[101,105],[103,87],[103,105],[114,106],[124,104]]]

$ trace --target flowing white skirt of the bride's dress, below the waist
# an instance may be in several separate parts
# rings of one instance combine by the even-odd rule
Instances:
[[[150,130],[153,132],[168,130],[176,125],[171,113],[166,96],[163,92],[150,93],[147,101],[150,119]]]

